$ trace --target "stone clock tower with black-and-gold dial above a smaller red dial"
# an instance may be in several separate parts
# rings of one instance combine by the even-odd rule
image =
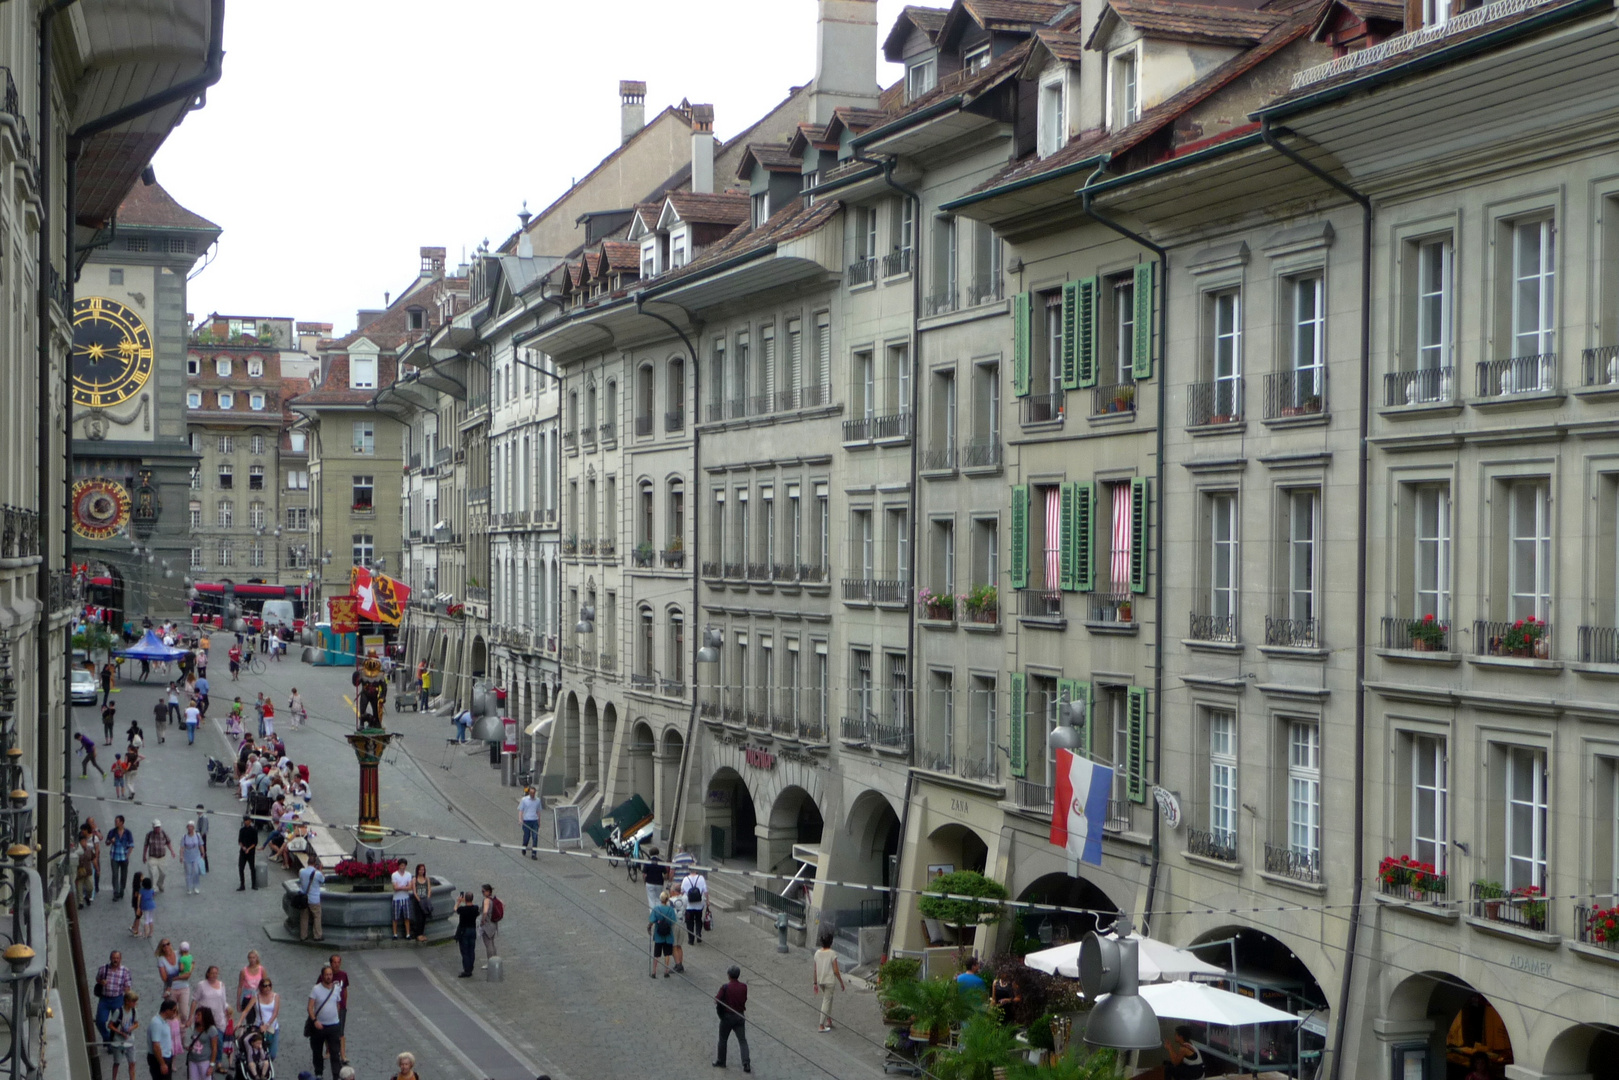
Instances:
[[[186,436],[186,279],[220,228],[157,183],[118,207],[74,287],[73,562],[121,619],[183,615],[198,452]]]

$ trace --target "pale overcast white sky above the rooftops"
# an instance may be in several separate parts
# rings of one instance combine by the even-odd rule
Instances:
[[[926,2],[926,0],[924,0]],[[944,0],[937,0],[944,6]],[[877,0],[877,40],[905,0]],[[814,76],[816,0],[230,0],[225,74],[154,160],[215,222],[189,309],[330,322],[541,210],[618,144],[618,79],[743,131]],[[879,81],[899,78],[881,62]],[[201,266],[201,264],[199,264]]]

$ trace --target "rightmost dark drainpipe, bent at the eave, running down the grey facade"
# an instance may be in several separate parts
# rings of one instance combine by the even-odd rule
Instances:
[[[1285,128],[1284,128],[1285,131]],[[1315,162],[1305,160],[1297,151],[1282,146],[1271,126],[1271,118],[1260,121],[1260,138],[1273,151],[1294,162],[1307,173],[1341,193],[1352,202],[1360,204],[1360,452],[1355,458],[1355,884],[1353,897],[1349,902],[1349,944],[1344,947],[1344,981],[1337,996],[1337,1033],[1332,1040],[1332,1069],[1329,1080],[1337,1080],[1339,1064],[1344,1061],[1344,1033],[1349,1027],[1349,994],[1355,975],[1355,938],[1360,931],[1360,897],[1365,866],[1365,806],[1366,806],[1366,478],[1368,478],[1368,432],[1371,426],[1371,199],[1355,191],[1347,183],[1326,172]]]

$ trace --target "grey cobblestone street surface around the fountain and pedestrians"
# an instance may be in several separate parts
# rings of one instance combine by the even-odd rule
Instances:
[[[162,938],[176,947],[181,941],[191,942],[198,980],[217,963],[232,991],[246,950],[257,949],[282,993],[278,1075],[290,1080],[311,1065],[309,1046],[300,1038],[303,1009],[329,949],[272,941],[264,926],[280,918],[278,892],[235,891],[233,836],[241,803],[235,792],[207,785],[206,759],[210,753],[225,755],[220,717],[228,712],[233,696],[240,695],[249,706],[251,724],[251,704],[261,690],[282,708],[290,690],[298,687],[309,706],[309,724],[288,729],[282,709],[277,719],[288,755],[311,764],[314,808],[321,816],[351,821],[358,766],[342,742],[351,724],[345,699],[350,672],[288,659],[270,664],[262,677],[244,674],[240,683],[230,683],[223,662],[227,638],[215,636],[214,721],[199,733],[196,746],[188,746],[173,730],[167,743],[159,745],[151,722],[160,687],[155,675],[147,685],[125,683],[113,696],[118,743],[131,719],[139,719],[147,730],[147,761],[134,784],[138,800],[207,806],[214,871],[196,897],[185,894],[178,871],[170,874],[170,887],[159,897],[157,936],[147,942],[130,936],[128,897],[112,902],[104,863],[104,891],[83,912],[86,963],[94,978],[94,968],[107,960],[108,950],[121,949],[136,973],[144,1018],[160,997],[152,950]],[[76,721],[79,730],[100,735],[97,709],[78,708]],[[471,840],[518,839],[516,792],[500,785],[481,743],[474,753],[455,751],[452,766],[440,769],[450,730],[447,721],[389,712],[387,722],[405,738],[390,751],[393,759],[382,766],[385,824]],[[110,759],[105,748],[102,758]],[[112,780],[91,771],[87,780],[74,782],[74,793],[110,797]],[[102,829],[120,813],[112,803],[84,798],[78,806],[81,818],[94,814]],[[138,845],[152,818],[162,819],[170,837],[178,840],[185,821],[194,816],[147,806],[121,811]],[[549,814],[542,836],[550,836]],[[340,839],[345,848],[350,847],[346,832]],[[400,840],[395,850],[411,863],[426,863],[431,873],[448,878],[457,887],[486,881],[495,886],[507,905],[499,944],[505,981],[489,983],[481,970],[473,980],[457,980],[453,946],[346,952],[345,967],[355,980],[348,1054],[361,1080],[392,1075],[393,1056],[402,1049],[413,1051],[421,1074],[432,1078],[528,1080],[542,1072],[557,1080],[652,1077],[670,1070],[706,1074],[716,1033],[711,997],[732,962],[742,965],[751,986],[748,1035],[756,1075],[856,1077],[881,1067],[881,1030],[871,994],[840,999],[839,1018],[853,1027],[818,1035],[810,954],[793,949],[779,955],[774,938],[738,915],[720,915],[709,944],[686,950],[685,978],[654,981],[646,976],[644,891],[628,882],[622,868],[559,855],[531,861],[515,852],[411,839]],[[131,874],[138,870],[138,863],[131,863]],[[283,871],[272,871],[272,884],[283,879]],[[730,1069],[740,1069],[735,1048]]]

